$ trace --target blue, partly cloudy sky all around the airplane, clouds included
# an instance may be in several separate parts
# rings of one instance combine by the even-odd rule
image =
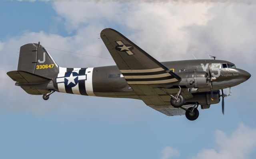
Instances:
[[[256,1],[2,0],[0,20],[0,158],[256,158]],[[252,77],[231,89],[225,116],[215,104],[192,122],[140,100],[55,92],[45,101],[6,75],[20,46],[38,41],[61,67],[115,65],[99,39],[108,27],[158,61],[215,55]]]

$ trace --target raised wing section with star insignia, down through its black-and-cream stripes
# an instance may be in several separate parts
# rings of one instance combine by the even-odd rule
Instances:
[[[168,84],[181,78],[114,29],[100,37],[128,84]]]

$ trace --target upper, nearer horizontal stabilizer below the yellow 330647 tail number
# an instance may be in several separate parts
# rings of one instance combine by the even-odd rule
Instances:
[[[14,81],[19,83],[42,83],[51,79],[28,73],[26,71],[10,71],[7,75]]]

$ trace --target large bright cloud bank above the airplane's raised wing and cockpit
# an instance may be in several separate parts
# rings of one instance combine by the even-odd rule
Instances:
[[[53,6],[68,31],[114,27],[160,61],[192,59],[192,54],[208,58],[207,53],[229,60],[256,57],[256,22],[251,17],[256,6],[80,1]]]

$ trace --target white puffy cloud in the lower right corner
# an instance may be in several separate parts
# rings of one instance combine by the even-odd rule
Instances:
[[[215,132],[216,148],[202,149],[192,159],[248,159],[256,151],[256,129],[240,124],[231,135]]]

